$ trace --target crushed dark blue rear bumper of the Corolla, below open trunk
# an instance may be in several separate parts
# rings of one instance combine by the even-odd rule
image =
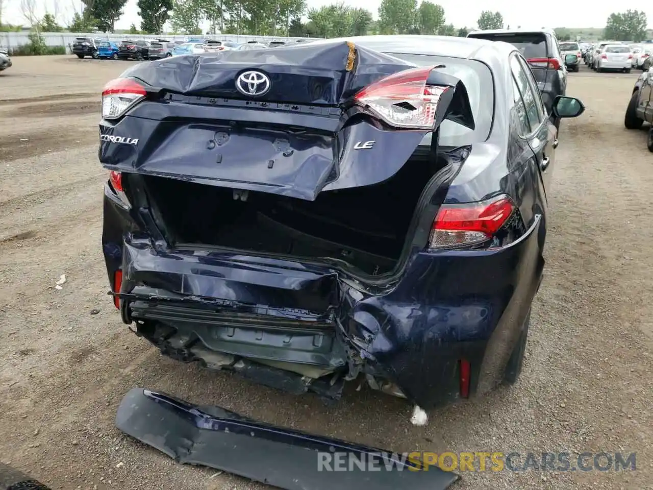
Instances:
[[[137,215],[105,189],[104,258],[112,286],[121,270],[112,294],[124,323],[174,359],[330,399],[364,374],[427,410],[450,404],[464,396],[463,360],[469,395],[489,391],[503,380],[544,267],[540,215],[503,248],[416,252],[381,291],[326,265],[170,250],[139,230],[150,218]]]

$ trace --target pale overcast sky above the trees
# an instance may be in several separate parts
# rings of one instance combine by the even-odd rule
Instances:
[[[59,22],[67,24],[75,7],[80,10],[80,0],[36,0],[37,4],[49,5],[48,10],[54,11],[54,2],[59,5]],[[337,0],[335,0],[337,1]],[[421,0],[418,0],[418,5]],[[622,0],[620,2],[585,3],[568,0],[550,0],[545,3],[516,2],[514,0],[432,0],[445,9],[447,24],[455,27],[471,27],[476,24],[481,10],[499,10],[503,14],[505,24],[511,27],[536,28],[536,27],[605,27],[608,16],[618,9],[624,12],[629,8],[645,10],[649,26],[653,25],[653,3],[641,0]],[[365,5],[374,18],[381,0],[344,0],[345,4],[360,7]],[[334,0],[307,0],[308,7],[321,7],[334,3]],[[534,6],[543,5],[545,8],[537,11]],[[20,12],[20,0],[6,0],[3,9],[3,22],[9,24],[25,24]],[[44,10],[44,8],[42,8]],[[537,14],[535,15],[535,12]],[[129,29],[131,24],[140,24],[136,0],[129,0],[125,7],[125,14],[116,24],[117,29]]]

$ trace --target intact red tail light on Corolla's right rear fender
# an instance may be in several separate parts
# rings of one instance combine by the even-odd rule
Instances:
[[[440,206],[429,248],[453,248],[480,244],[494,237],[515,211],[515,204],[501,195],[488,201]]]

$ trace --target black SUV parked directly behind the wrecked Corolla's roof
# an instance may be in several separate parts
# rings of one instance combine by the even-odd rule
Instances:
[[[560,119],[553,115],[552,106],[556,97],[565,95],[567,91],[567,68],[560,52],[558,38],[552,29],[473,31],[467,37],[513,44],[528,60],[551,121],[556,127],[560,125]]]

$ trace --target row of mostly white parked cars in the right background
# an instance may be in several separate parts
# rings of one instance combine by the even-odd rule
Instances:
[[[581,46],[584,63],[594,71],[631,69],[648,71],[653,44],[626,44],[620,41],[601,41]]]

